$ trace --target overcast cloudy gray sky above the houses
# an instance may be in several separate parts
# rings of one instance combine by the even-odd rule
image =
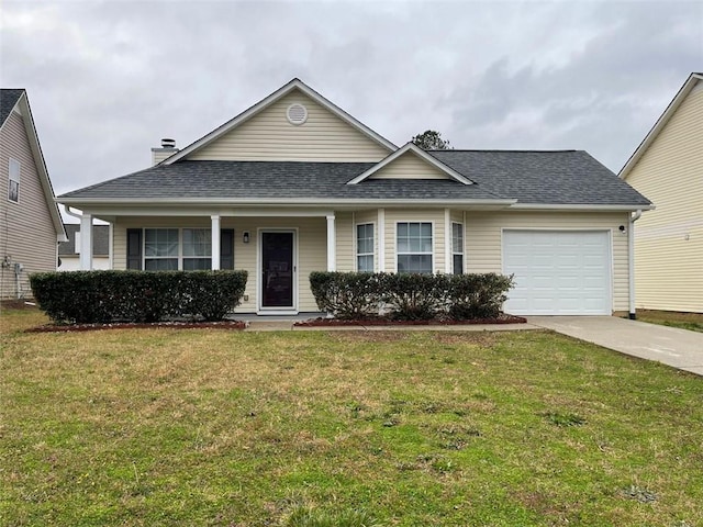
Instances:
[[[585,149],[617,172],[691,71],[703,1],[3,0],[56,194],[146,168],[298,77],[402,145]]]

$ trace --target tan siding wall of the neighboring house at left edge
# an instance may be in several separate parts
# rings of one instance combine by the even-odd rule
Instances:
[[[33,272],[55,271],[56,231],[30,149],[23,117],[12,112],[0,132],[0,259],[12,266],[0,267],[0,298],[18,296],[14,264],[21,264],[20,295],[31,296],[29,277]],[[8,200],[10,158],[20,161],[19,202]]]

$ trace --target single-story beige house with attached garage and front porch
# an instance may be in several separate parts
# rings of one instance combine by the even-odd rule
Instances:
[[[398,148],[298,79],[153,153],[59,201],[113,224],[115,269],[247,270],[237,312],[316,311],[315,270],[514,273],[506,312],[624,311],[650,208],[584,152]]]

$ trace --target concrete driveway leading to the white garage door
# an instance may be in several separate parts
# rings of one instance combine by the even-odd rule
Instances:
[[[703,375],[703,333],[616,316],[528,316],[527,323]]]

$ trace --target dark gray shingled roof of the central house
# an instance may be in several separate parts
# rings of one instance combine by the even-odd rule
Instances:
[[[347,181],[372,162],[177,161],[68,192],[59,198],[518,200],[536,204],[649,202],[584,152],[442,150],[431,154],[477,184],[454,180]]]

